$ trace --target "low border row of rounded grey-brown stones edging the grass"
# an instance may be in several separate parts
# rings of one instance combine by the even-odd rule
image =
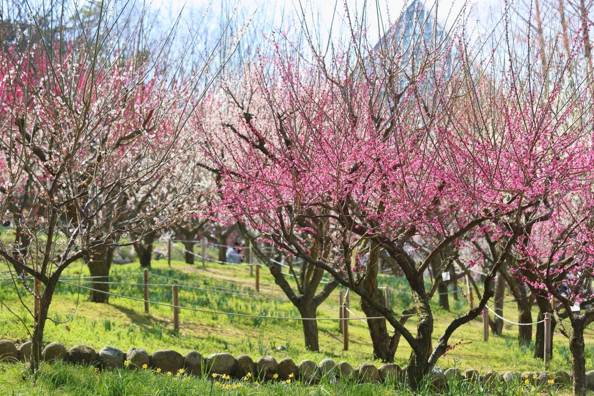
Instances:
[[[0,360],[24,362],[31,354],[31,341],[18,347],[10,340],[0,340]],[[386,363],[380,368],[373,363],[361,363],[353,368],[347,362],[335,363],[332,359],[324,359],[319,364],[305,359],[299,364],[289,357],[277,362],[273,356],[262,356],[255,362],[246,354],[233,357],[229,353],[214,353],[203,357],[197,351],[189,351],[184,356],[174,350],[159,350],[153,354],[140,348],[131,348],[126,353],[116,347],[108,346],[98,353],[91,347],[75,345],[67,350],[61,343],[50,343],[42,351],[42,359],[46,362],[65,360],[76,365],[93,365],[99,369],[118,369],[126,366],[129,369],[151,369],[162,373],[187,372],[195,376],[212,375],[225,378],[242,379],[254,377],[261,381],[287,381],[295,379],[307,384],[316,384],[320,379],[330,377],[330,381],[350,379],[357,382],[396,383],[403,380],[406,366],[400,368],[395,363]],[[478,370],[460,370],[450,368],[442,370],[434,368],[431,373],[431,384],[443,387],[448,380],[471,381],[486,387],[495,387],[499,382],[546,386],[551,384],[571,384],[571,375],[564,371],[557,372],[525,372],[510,371],[500,375],[488,371],[480,375]],[[594,370],[586,373],[586,387],[594,390]]]

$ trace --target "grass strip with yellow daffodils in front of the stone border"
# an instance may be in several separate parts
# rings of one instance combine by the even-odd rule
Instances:
[[[163,375],[151,370],[106,370],[72,366],[63,362],[44,363],[34,375],[24,375],[25,368],[18,363],[0,363],[0,392],[10,396],[249,396],[249,395],[286,395],[286,396],[387,396],[412,395],[410,389],[401,384],[358,384],[347,379],[334,381],[330,375],[321,379],[319,384],[306,385],[299,381],[258,382],[255,379],[242,380],[197,378],[178,375]],[[532,387],[520,384],[496,384],[493,388],[473,385],[466,381],[450,381],[443,388],[432,387],[427,381],[414,393],[419,396],[429,395],[470,395],[470,396],[546,396],[565,395],[565,389],[550,387]]]

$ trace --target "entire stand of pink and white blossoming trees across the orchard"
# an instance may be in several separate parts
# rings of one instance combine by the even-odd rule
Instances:
[[[264,33],[205,13],[162,36],[146,10],[91,5],[3,15],[0,204],[14,239],[0,256],[45,285],[31,369],[68,265],[86,261],[105,292],[116,246],[147,265],[165,232],[222,244],[239,232],[304,318],[339,284],[386,318],[369,321],[374,353],[393,360],[403,338],[412,388],[507,283],[520,322],[533,299],[539,319],[554,315],[584,393],[594,87],[583,1],[507,2],[488,17],[465,8],[443,25],[441,6],[415,1],[377,30],[345,9],[329,34],[305,12]],[[194,40],[201,28],[217,39]],[[292,280],[263,243],[302,260]],[[404,312],[378,293],[380,262],[409,285]],[[478,302],[432,344],[440,274],[475,266],[487,273]],[[303,324],[317,350],[315,321]],[[537,328],[536,350],[543,338]]]

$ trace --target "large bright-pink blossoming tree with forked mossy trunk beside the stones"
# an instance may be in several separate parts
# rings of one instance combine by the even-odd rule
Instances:
[[[400,21],[405,26],[392,27],[380,45],[350,24],[347,40],[328,43],[326,53],[314,40],[292,39],[304,35],[273,37],[276,53],[245,76],[257,105],[225,119],[206,150],[221,176],[219,210],[327,271],[384,316],[412,347],[407,382],[415,388],[456,329],[484,312],[501,266],[530,262],[511,258],[530,252],[527,241],[565,199],[586,192],[592,116],[589,84],[563,90],[576,78],[571,56],[554,58],[545,81],[531,66],[534,47],[473,42],[464,24],[407,42]],[[421,18],[411,23],[425,31]],[[431,347],[437,283],[426,288],[423,274],[436,260],[446,268],[447,249],[474,265],[481,257],[469,241],[481,233],[501,246],[484,292]],[[364,243],[402,271],[416,334],[369,286],[374,270],[358,253]],[[316,245],[330,253],[319,255]]]

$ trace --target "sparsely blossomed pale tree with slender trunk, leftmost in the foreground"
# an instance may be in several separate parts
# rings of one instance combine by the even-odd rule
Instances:
[[[58,12],[66,20],[67,10]],[[0,245],[0,256],[39,301],[33,370],[65,268],[86,258],[91,274],[106,276],[110,249],[177,220],[180,213],[170,208],[187,201],[189,190],[153,192],[183,164],[182,127],[200,100],[197,88],[212,78],[204,68],[182,73],[184,58],[166,51],[173,34],[156,52],[125,51],[144,37],[134,29],[138,40],[122,35],[120,18],[134,18],[103,3],[97,12],[91,33],[55,42],[43,40],[31,15],[26,29],[42,39],[24,50],[8,40],[0,48],[0,208],[16,231],[14,243]],[[43,291],[31,290],[26,276]],[[94,293],[106,296],[105,283],[95,279]]]

